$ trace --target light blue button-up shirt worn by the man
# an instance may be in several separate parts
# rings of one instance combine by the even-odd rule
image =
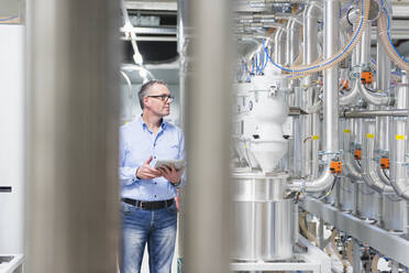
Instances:
[[[120,128],[120,168],[122,198],[153,201],[167,200],[176,196],[176,188],[185,184],[185,174],[176,187],[165,177],[136,178],[136,170],[153,156],[151,166],[157,160],[180,160],[185,157],[185,138],[181,130],[163,121],[155,135],[142,117]],[[186,172],[185,172],[186,173]]]

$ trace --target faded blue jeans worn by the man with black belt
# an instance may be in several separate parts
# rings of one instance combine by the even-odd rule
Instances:
[[[146,243],[150,255],[150,272],[170,273],[177,228],[176,204],[157,210],[144,210],[123,201],[121,207],[121,273],[141,272]]]

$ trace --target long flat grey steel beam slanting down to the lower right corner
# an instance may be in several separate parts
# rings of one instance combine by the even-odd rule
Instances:
[[[369,244],[385,256],[409,266],[409,241],[400,238],[399,233],[380,229],[366,220],[361,220],[345,211],[342,212],[311,197],[307,197],[301,206],[312,215],[333,225],[338,230],[358,238],[360,241]]]

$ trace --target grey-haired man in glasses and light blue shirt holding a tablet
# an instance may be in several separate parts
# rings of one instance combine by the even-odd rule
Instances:
[[[120,129],[122,184],[122,270],[141,272],[145,245],[151,273],[169,273],[175,251],[177,188],[184,168],[153,167],[156,160],[184,157],[184,134],[166,121],[173,97],[166,84],[151,80],[139,91],[143,113]]]

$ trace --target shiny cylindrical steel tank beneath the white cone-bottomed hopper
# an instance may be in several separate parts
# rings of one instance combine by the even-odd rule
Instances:
[[[292,256],[295,205],[285,198],[287,174],[232,173],[235,248],[239,261]]]

